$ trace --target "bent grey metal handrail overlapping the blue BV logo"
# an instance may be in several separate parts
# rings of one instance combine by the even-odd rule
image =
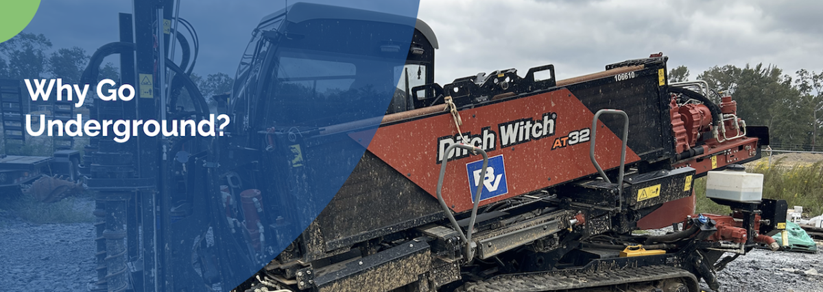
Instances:
[[[467,144],[451,144],[444,155],[446,158],[443,159],[443,164],[440,165],[440,177],[437,179],[437,201],[440,203],[440,207],[443,208],[443,212],[446,213],[446,217],[449,217],[449,221],[452,222],[452,226],[454,227],[455,231],[458,231],[460,235],[460,239],[463,240],[463,243],[466,244],[466,259],[467,261],[472,261],[474,257],[474,250],[472,249],[472,231],[474,230],[474,221],[477,219],[477,207],[480,206],[480,195],[483,190],[483,184],[478,182],[477,184],[477,193],[474,195],[474,205],[472,206],[472,217],[469,219],[468,223],[468,230],[466,234],[463,234],[463,230],[460,228],[458,221],[454,219],[454,215],[452,214],[452,210],[449,209],[449,205],[446,204],[446,201],[443,199],[443,194],[441,190],[443,189],[443,178],[446,174],[446,163],[449,162],[449,153],[452,152],[454,148],[463,148],[469,151],[474,155],[480,153],[483,156],[483,168],[480,171],[480,178],[486,177],[486,167],[489,167],[489,155],[486,154],[481,148],[474,147],[472,145]]]

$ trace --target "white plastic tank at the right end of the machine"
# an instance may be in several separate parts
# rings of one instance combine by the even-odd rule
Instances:
[[[760,201],[763,198],[763,175],[748,173],[741,165],[729,166],[725,171],[709,171],[706,197],[735,202]]]

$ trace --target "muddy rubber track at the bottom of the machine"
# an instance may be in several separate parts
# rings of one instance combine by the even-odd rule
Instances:
[[[467,292],[545,292],[593,288],[672,278],[686,278],[687,286],[696,288],[695,276],[676,267],[647,266],[609,269],[605,271],[548,271],[529,274],[495,276],[486,281],[469,283]]]

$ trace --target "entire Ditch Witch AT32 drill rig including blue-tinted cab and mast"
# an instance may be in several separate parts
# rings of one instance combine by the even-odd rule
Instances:
[[[187,77],[192,46],[177,26],[156,25],[182,20],[162,9],[170,1],[158,3],[136,1],[134,16],[120,16],[121,42],[92,56],[87,82],[119,53],[123,83],[147,87],[137,105],[95,105],[97,118],[208,116]],[[91,290],[229,288],[221,279],[263,266],[235,290],[671,292],[698,291],[700,279],[717,290],[715,272],[728,262],[757,244],[776,247],[769,235],[785,226],[783,201],[722,201],[732,215],[692,214],[695,178],[757,159],[768,130],[747,127],[735,102],[704,83],[669,84],[662,54],[567,80],[546,65],[441,87],[437,39],[422,21],[408,21],[412,42],[398,44],[362,33],[402,25],[377,12],[286,11],[263,18],[232,94],[216,98],[234,121],[225,135],[86,147],[100,217]],[[165,58],[175,39],[180,64]],[[318,46],[329,39],[337,52]],[[373,72],[355,68],[375,64],[361,55],[370,50],[406,58],[381,71],[401,75],[385,116],[308,110],[365,93]],[[343,159],[341,145],[366,150]],[[356,164],[322,212],[305,202],[326,179],[309,168],[320,161]],[[679,222],[666,235],[631,233]]]

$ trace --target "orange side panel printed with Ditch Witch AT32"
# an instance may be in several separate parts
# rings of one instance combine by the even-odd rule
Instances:
[[[505,187],[506,192],[486,196],[481,205],[597,172],[588,157],[594,114],[568,89],[465,109],[460,116],[460,129],[469,143],[484,148],[489,157],[496,157],[497,167],[504,168],[494,170],[489,185]],[[618,167],[621,140],[602,123],[598,127],[597,161],[604,169]],[[457,134],[452,116],[444,113],[379,127],[369,151],[432,196],[436,196],[440,163],[451,157],[443,196],[453,211],[463,212],[472,208],[472,194],[477,190],[469,183],[474,179],[468,164],[482,157],[462,149],[453,153],[457,155],[444,153],[449,143],[461,140]],[[626,163],[637,161],[637,154],[628,149]],[[499,178],[504,178],[504,185],[494,185]]]

